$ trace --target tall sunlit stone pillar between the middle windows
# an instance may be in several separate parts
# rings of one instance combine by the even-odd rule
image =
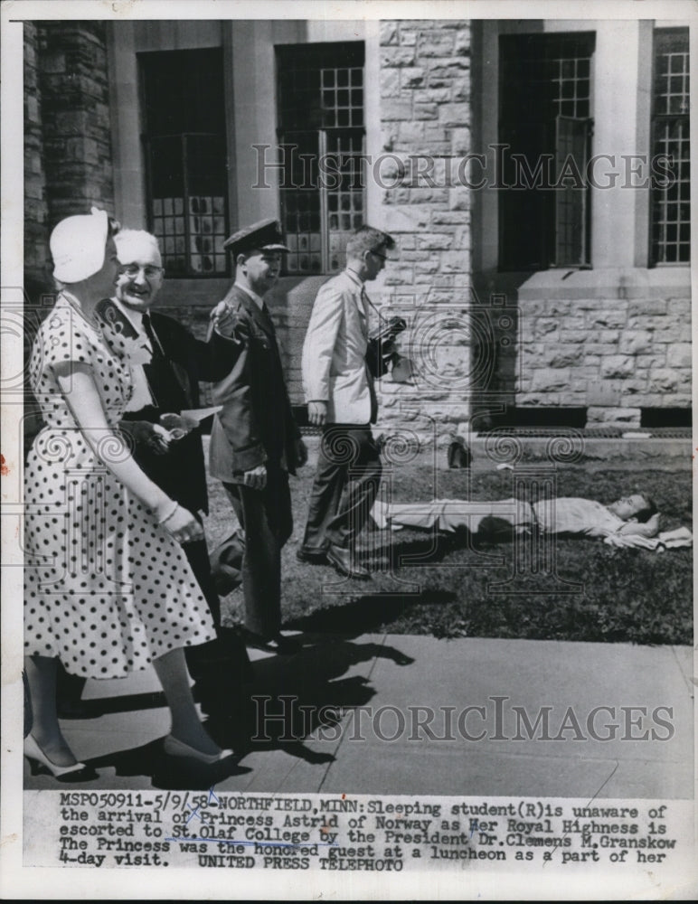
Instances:
[[[470,146],[470,24],[383,22],[380,79],[381,225],[399,246],[380,300],[408,320],[401,350],[419,372],[414,386],[382,381],[381,421],[441,436],[470,410],[470,197],[457,184]]]

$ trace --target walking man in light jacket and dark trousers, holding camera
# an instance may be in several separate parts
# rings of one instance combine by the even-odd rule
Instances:
[[[385,265],[395,242],[363,226],[346,245],[346,268],[317,294],[303,345],[303,385],[308,419],[322,426],[317,471],[303,545],[297,558],[329,562],[340,574],[367,579],[355,540],[373,507],[381,459],[371,424],[378,406],[369,349],[371,302],[364,283]]]

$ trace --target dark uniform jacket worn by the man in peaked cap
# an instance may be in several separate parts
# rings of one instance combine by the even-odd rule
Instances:
[[[214,357],[219,364],[227,360],[228,373],[212,389],[213,402],[222,405],[222,411],[213,419],[211,474],[239,483],[244,471],[261,464],[295,474],[300,431],[288,400],[274,325],[237,286],[225,301],[231,322],[220,334],[212,332]]]

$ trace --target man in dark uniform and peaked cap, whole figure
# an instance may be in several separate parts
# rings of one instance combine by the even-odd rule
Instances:
[[[297,645],[280,632],[281,548],[293,530],[288,475],[306,463],[307,452],[264,303],[277,282],[281,252],[288,249],[275,220],[236,232],[224,247],[235,261],[235,283],[212,341],[216,361],[227,355],[230,371],[213,386],[213,400],[222,410],[213,420],[210,470],[222,480],[245,533],[247,643],[291,653]]]

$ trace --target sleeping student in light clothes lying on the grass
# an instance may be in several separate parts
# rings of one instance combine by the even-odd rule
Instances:
[[[646,494],[631,494],[602,505],[594,499],[561,497],[533,504],[521,499],[476,502],[435,499],[430,503],[376,502],[371,512],[379,528],[426,528],[457,531],[467,528],[495,536],[501,532],[573,533],[588,537],[633,534],[654,537],[659,532],[656,504]]]

